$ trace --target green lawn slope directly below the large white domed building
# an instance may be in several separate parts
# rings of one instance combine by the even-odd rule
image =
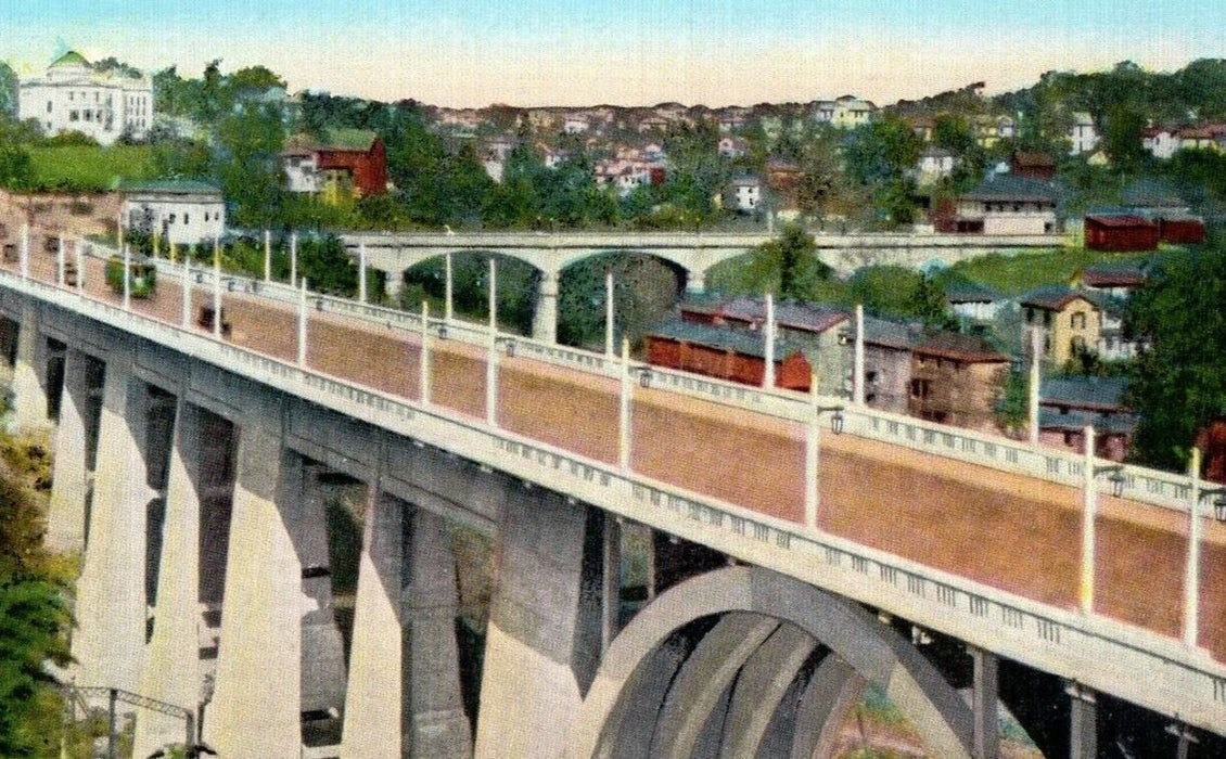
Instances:
[[[29,151],[39,186],[107,190],[154,177],[152,151],[141,145],[36,147]]]

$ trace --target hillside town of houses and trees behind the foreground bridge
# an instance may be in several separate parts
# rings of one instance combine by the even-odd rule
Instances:
[[[219,240],[237,269],[257,267],[261,231],[276,233],[282,257],[288,232],[302,231],[304,251],[319,248],[314,265],[332,266],[313,281],[345,292],[356,287],[333,237],[345,232],[793,226],[679,302],[658,261],[579,262],[563,272],[559,335],[600,342],[591,303],[597,270],[612,267],[631,293],[619,329],[653,363],[848,395],[858,330],[868,405],[1073,450],[1094,425],[1100,455],[1114,460],[1135,450],[1145,414],[1129,384],[1157,337],[1133,326],[1140,316],[1130,324],[1132,294],[1161,256],[1199,249],[1226,201],[1226,90],[1214,86],[1226,63],[1216,60],[1172,74],[1129,63],[1052,71],[992,97],[975,82],[889,105],[843,94],[723,108],[378,103],[291,93],[260,66],[223,72],[213,61],[191,77],[72,51],[37,76],[4,74],[10,245],[18,224],[38,221],[17,199],[50,194],[69,234],[153,255],[207,256]],[[55,212],[54,200],[42,206]],[[994,255],[918,270],[878,262],[845,277],[817,262],[812,235],[874,233],[978,238]],[[1022,238],[1029,266],[1008,255]],[[797,251],[817,266],[781,264]],[[527,331],[539,276],[514,259],[504,269],[503,318]],[[457,270],[461,310],[483,308],[479,271]],[[380,292],[409,308],[438,299],[438,266]],[[779,298],[770,325],[765,292]],[[857,303],[868,310],[858,327]],[[777,372],[764,365],[767,332]],[[1027,418],[1035,349],[1045,379]],[[1221,424],[1198,413],[1184,438]]]

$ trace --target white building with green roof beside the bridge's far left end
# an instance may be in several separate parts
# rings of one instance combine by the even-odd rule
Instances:
[[[146,181],[126,185],[121,215],[128,231],[157,234],[175,245],[196,245],[226,231],[226,204],[202,181]]]

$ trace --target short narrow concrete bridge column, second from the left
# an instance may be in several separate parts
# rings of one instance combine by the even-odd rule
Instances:
[[[88,362],[85,353],[72,348],[64,357],[55,468],[47,515],[47,546],[51,551],[85,548],[85,505],[89,495],[86,450],[91,391]]]

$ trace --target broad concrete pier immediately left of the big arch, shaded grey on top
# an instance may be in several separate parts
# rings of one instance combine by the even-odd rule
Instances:
[[[601,645],[603,515],[532,490],[498,532],[478,757],[563,757]]]

